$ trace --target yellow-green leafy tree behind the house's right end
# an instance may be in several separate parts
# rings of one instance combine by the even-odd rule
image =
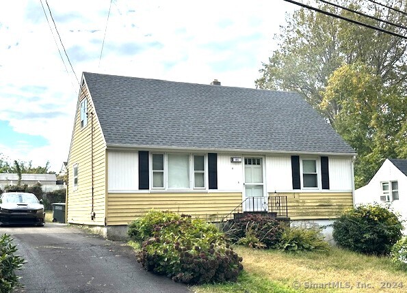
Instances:
[[[335,108],[334,128],[358,152],[355,183],[362,186],[385,158],[398,156],[398,149],[407,147],[399,139],[407,101],[389,87],[365,64],[345,64],[334,71],[322,92],[319,107]]]

